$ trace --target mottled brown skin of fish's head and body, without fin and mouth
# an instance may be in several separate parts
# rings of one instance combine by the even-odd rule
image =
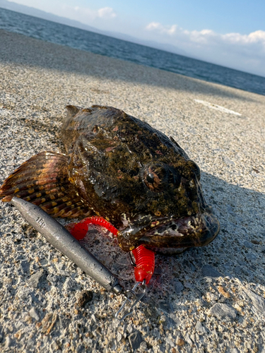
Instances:
[[[61,138],[69,154],[71,183],[96,214],[122,230],[119,244],[124,250],[150,243],[151,237],[141,239],[144,234],[170,219],[208,214],[199,167],[173,138],[146,122],[113,107],[69,107]],[[161,241],[157,234],[149,245],[207,244],[219,225],[211,215],[202,223],[192,236],[164,236]]]

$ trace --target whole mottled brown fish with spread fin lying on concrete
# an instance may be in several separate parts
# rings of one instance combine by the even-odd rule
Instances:
[[[114,107],[66,109],[64,153],[21,164],[1,185],[1,201],[23,198],[52,217],[104,217],[126,252],[178,253],[216,238],[200,169],[174,138]]]

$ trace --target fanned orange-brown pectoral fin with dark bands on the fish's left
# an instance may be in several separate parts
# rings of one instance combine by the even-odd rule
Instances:
[[[45,151],[34,155],[18,167],[0,188],[1,201],[13,196],[39,205],[52,217],[90,215],[88,204],[69,181],[68,157]]]

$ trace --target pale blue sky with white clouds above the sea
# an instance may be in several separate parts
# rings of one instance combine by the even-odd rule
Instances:
[[[265,76],[265,0],[13,0]]]

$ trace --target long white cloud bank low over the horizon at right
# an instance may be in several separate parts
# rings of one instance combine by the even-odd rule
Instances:
[[[157,42],[174,45],[200,59],[265,76],[265,31],[249,35],[219,34],[213,30],[184,30],[178,25],[149,23],[146,33]]]

